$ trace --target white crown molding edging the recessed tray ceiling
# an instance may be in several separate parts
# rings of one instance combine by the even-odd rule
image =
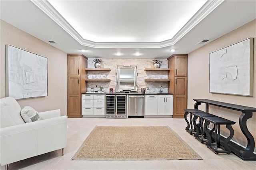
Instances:
[[[85,40],[47,0],[30,0],[81,45],[93,48],[162,48],[174,45],[224,0],[208,0],[170,40],[162,42],[93,42]]]

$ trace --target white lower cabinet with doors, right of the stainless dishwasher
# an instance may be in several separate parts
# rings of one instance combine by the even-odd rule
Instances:
[[[173,95],[145,95],[145,115],[172,115]]]

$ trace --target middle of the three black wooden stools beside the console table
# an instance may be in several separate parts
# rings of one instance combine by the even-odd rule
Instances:
[[[217,117],[217,116],[212,115],[210,113],[206,113],[206,112],[192,112],[191,114],[194,115],[194,118],[193,118],[192,122],[193,122],[193,125],[194,125],[195,129],[196,129],[196,133],[194,134],[194,136],[201,143],[204,143],[204,142],[206,142],[206,140],[204,140],[204,137],[206,137],[206,136],[205,136],[205,132],[203,130],[204,119],[202,117]],[[199,120],[199,123],[196,125],[196,119],[198,117],[199,117],[200,120]],[[201,138],[199,136],[200,133],[201,133]]]

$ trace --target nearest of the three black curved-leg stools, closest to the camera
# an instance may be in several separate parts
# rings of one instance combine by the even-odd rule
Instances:
[[[204,132],[206,133],[206,136],[208,137],[208,141],[206,142],[206,146],[208,148],[210,148],[212,151],[214,151],[215,154],[218,153],[226,153],[226,154],[230,154],[231,149],[228,146],[228,142],[230,141],[230,139],[232,139],[233,135],[234,135],[234,129],[232,128],[231,125],[234,125],[236,122],[230,121],[228,119],[224,119],[222,117],[202,117],[205,120],[204,123]],[[213,123],[214,127],[212,128],[212,130],[210,130],[210,132],[208,132],[207,130],[207,126]],[[230,131],[230,135],[228,136],[228,138],[226,138],[224,140],[224,148],[222,146],[220,146],[220,125],[226,125],[226,127],[228,128],[228,130]],[[212,132],[214,132],[214,136],[215,136],[215,147],[212,147]],[[223,150],[218,151],[218,147],[222,148]]]

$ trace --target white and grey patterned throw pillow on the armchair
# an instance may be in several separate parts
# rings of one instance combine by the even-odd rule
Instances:
[[[40,121],[38,112],[30,106],[25,106],[21,111],[20,115],[26,123]]]

